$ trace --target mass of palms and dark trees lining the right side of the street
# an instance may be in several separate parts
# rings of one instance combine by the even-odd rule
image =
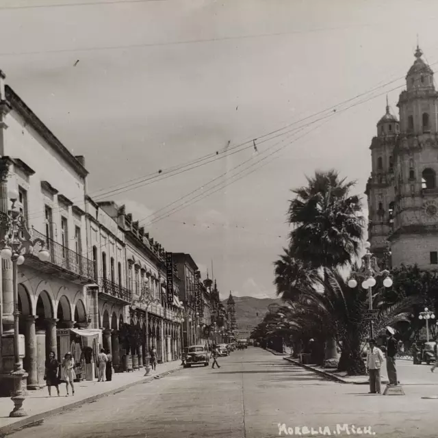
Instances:
[[[294,355],[309,352],[311,345],[313,361],[350,375],[365,373],[362,352],[370,337],[368,289],[361,281],[348,285],[351,273],[360,268],[365,237],[361,198],[352,194],[354,188],[355,181],[330,170],[315,172],[306,186],[292,190],[287,210],[292,231],[274,262],[274,284],[284,305],[268,313],[251,334],[262,345],[282,339]],[[391,287],[375,278],[374,337],[392,326],[409,348],[424,325],[420,311],[436,309],[438,272],[401,266],[391,270],[391,278]],[[435,335],[435,326],[431,331]]]

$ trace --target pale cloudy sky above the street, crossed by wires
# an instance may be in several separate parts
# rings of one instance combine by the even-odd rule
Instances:
[[[363,194],[417,40],[437,69],[437,14],[436,0],[0,0],[0,69],[85,156],[92,198],[125,203],[203,276],[213,265],[223,298],[273,298],[290,190],[335,168]]]

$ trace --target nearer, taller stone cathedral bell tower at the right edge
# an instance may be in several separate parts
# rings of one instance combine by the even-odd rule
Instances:
[[[438,268],[438,92],[433,70],[417,47],[398,101],[400,136],[394,149],[393,266]]]

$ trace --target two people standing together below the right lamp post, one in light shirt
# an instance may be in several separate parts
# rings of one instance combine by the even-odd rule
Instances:
[[[398,343],[394,337],[395,331],[392,327],[386,328],[387,344],[386,344],[386,370],[389,379],[388,386],[397,386],[397,370],[396,370],[396,355],[398,352]],[[381,394],[381,367],[385,357],[381,348],[376,346],[376,341],[370,339],[368,341],[370,348],[367,352],[367,369],[370,373],[370,394]]]

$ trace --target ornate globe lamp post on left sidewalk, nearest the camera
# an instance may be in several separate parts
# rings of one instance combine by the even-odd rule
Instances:
[[[16,207],[18,193],[11,191],[8,193],[12,203],[8,213],[1,214],[1,231],[3,234],[2,249],[0,257],[12,261],[12,287],[14,295],[14,371],[11,373],[14,379],[14,391],[11,400],[14,402],[14,409],[9,414],[10,417],[25,417],[26,411],[23,409],[25,396],[23,395],[22,382],[27,377],[27,372],[23,370],[20,360],[20,311],[18,310],[18,266],[25,262],[25,253],[29,253],[36,244],[41,245],[38,258],[41,261],[49,261],[50,253],[45,249],[46,242],[40,238],[31,240],[31,235],[27,230],[25,217]],[[6,333],[5,333],[6,334]]]

